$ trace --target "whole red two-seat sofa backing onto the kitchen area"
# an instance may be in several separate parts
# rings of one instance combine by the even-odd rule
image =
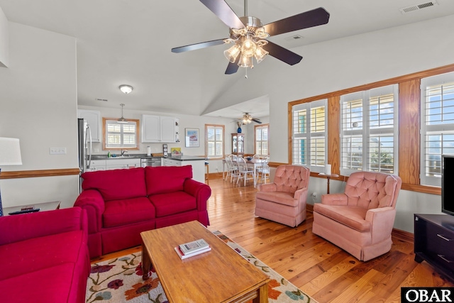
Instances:
[[[84,172],[74,206],[87,209],[90,257],[138,246],[140,233],[198,220],[209,225],[211,188],[192,179],[192,166]]]

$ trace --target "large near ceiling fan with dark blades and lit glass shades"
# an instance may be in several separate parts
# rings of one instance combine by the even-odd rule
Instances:
[[[255,60],[259,63],[268,54],[289,65],[299,63],[303,57],[265,39],[273,35],[321,26],[328,23],[329,20],[329,13],[320,7],[262,25],[262,21],[260,21],[259,18],[248,16],[247,0],[244,1],[245,16],[239,18],[224,0],[199,1],[218,16],[223,23],[226,23],[230,28],[229,38],[180,46],[178,48],[172,48],[172,52],[183,53],[189,50],[198,50],[209,46],[233,43],[231,48],[224,51],[224,55],[226,55],[227,59],[230,61],[227,66],[226,75],[236,73],[238,67],[253,68],[253,57],[255,57]]]

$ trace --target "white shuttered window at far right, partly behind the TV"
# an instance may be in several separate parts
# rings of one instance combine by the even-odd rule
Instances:
[[[421,184],[441,186],[441,155],[454,154],[454,72],[421,79]]]

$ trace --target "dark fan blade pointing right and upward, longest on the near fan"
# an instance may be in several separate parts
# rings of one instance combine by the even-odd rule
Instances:
[[[298,15],[284,18],[279,21],[266,24],[265,32],[271,35],[279,35],[281,33],[289,33],[291,31],[302,30],[303,28],[311,28],[321,26],[328,23],[329,13],[323,7],[299,13]]]

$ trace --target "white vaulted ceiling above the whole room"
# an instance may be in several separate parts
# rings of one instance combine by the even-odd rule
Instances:
[[[243,0],[227,0],[243,16]],[[249,0],[248,16],[262,23],[323,7],[328,24],[270,38],[299,53],[304,45],[402,26],[454,13],[454,1],[437,0],[425,9],[402,13],[424,0]],[[242,112],[268,116],[266,96],[236,100],[226,109],[207,112],[209,105],[245,80],[245,70],[224,75],[227,45],[187,53],[171,53],[177,46],[228,38],[228,27],[199,0],[0,0],[9,21],[70,35],[77,39],[78,104],[177,114],[238,118]],[[301,38],[295,39],[294,36]],[[254,72],[279,72],[274,57],[266,57]],[[290,67],[281,62],[279,68]],[[120,84],[134,87],[124,95]],[[100,101],[104,99],[107,101]],[[260,101],[260,110],[257,102]]]

